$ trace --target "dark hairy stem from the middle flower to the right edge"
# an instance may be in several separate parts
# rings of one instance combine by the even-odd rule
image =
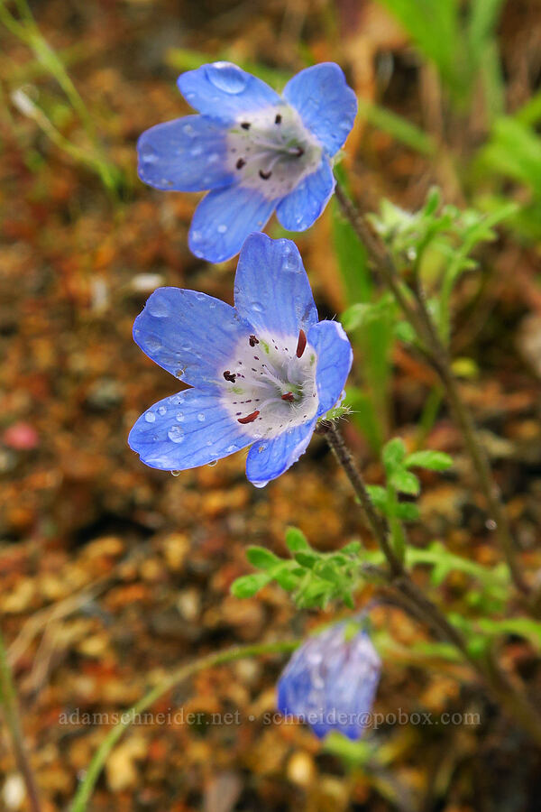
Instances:
[[[361,472],[355,465],[349,448],[346,447],[342,435],[335,422],[324,420],[320,424],[320,432],[326,437],[336,460],[344,469],[353,491],[362,506],[362,510],[377,540],[383,555],[389,564],[387,583],[398,596],[399,602],[409,614],[417,617],[439,637],[452,643],[461,652],[472,668],[481,677],[484,684],[491,691],[492,697],[504,707],[508,714],[527,732],[539,747],[541,747],[541,716],[536,708],[527,699],[522,687],[515,687],[507,675],[500,669],[498,662],[488,656],[477,657],[472,655],[462,632],[450,623],[445,614],[419,589],[411,580],[408,571],[397,558],[390,543],[390,531],[387,522],[374,509],[371,498],[366,490]]]

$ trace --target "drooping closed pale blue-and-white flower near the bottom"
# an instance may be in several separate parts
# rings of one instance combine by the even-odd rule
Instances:
[[[380,681],[381,660],[365,631],[337,623],[295,651],[278,683],[278,709],[310,725],[320,739],[339,731],[361,738]]]

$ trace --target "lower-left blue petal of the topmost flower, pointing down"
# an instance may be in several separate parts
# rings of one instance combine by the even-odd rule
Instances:
[[[230,186],[215,189],[196,208],[189,229],[189,247],[209,263],[222,263],[241,250],[252,231],[261,231],[275,202],[257,189]]]

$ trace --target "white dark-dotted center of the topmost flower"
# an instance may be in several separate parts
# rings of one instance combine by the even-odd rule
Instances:
[[[241,116],[226,140],[228,169],[267,200],[288,195],[321,161],[321,145],[285,103]]]

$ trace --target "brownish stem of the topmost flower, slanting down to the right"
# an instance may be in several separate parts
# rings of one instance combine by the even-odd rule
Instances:
[[[455,420],[460,426],[465,446],[472,459],[472,466],[479,480],[491,520],[495,524],[494,531],[508,564],[511,577],[518,591],[522,595],[528,595],[530,588],[518,565],[515,544],[509,528],[509,519],[501,503],[499,488],[494,481],[491,467],[477,436],[472,415],[462,399],[451,368],[451,359],[426,308],[426,301],[422,292],[418,286],[413,291],[406,292],[404,290],[399,272],[385,245],[374,234],[362,213],[353,205],[338,183],[336,184],[335,193],[344,216],[349,220],[355,234],[365,246],[375,271],[390,289],[404,316],[416,331],[417,338],[444,384]]]

